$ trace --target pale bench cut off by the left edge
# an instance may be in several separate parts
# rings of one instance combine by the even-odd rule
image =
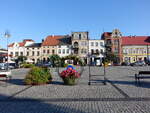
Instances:
[[[3,80],[1,80],[1,78],[3,78]],[[8,82],[8,80],[11,79],[11,72],[10,71],[1,71],[0,72],[0,80],[1,81],[6,81],[6,83]]]

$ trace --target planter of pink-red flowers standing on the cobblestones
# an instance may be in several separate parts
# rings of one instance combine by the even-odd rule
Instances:
[[[80,78],[80,74],[73,68],[67,68],[60,73],[60,77],[65,85],[75,85],[78,78]]]

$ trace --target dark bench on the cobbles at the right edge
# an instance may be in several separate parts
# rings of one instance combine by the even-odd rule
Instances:
[[[138,74],[135,74],[135,82],[140,84],[140,79],[150,79],[150,71],[139,71]]]

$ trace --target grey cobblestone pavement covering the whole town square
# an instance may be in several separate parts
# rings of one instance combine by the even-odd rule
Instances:
[[[51,69],[53,82],[41,86],[25,86],[28,69],[12,71],[7,86],[0,82],[0,113],[150,113],[150,79],[136,85],[134,74],[145,67],[107,67],[107,85],[103,85],[103,67],[88,67],[78,84],[63,85],[56,69]],[[59,69],[61,71],[63,69]]]

